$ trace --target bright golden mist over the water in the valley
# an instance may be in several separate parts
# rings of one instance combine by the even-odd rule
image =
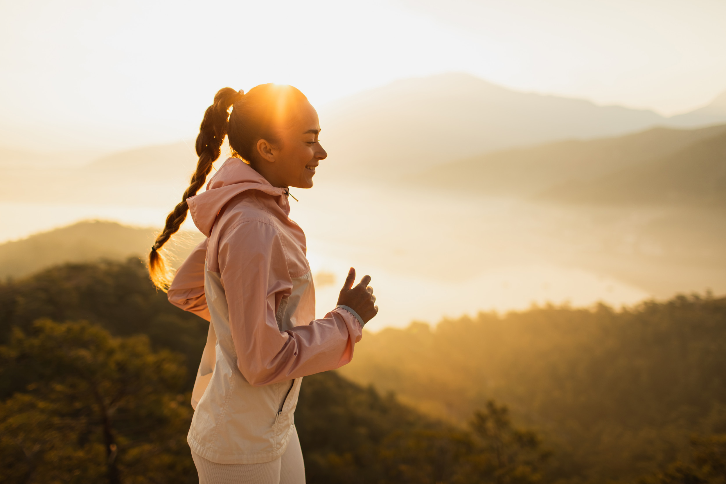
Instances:
[[[317,316],[334,307],[350,266],[358,279],[372,276],[380,306],[368,324],[374,331],[531,303],[603,301],[617,307],[670,295],[669,288],[637,284],[598,265],[613,257],[611,242],[625,257],[628,244],[640,250],[637,241],[628,242],[638,224],[632,214],[626,220],[611,214],[603,225],[584,210],[513,198],[345,184],[325,179],[325,163],[319,175],[313,189],[293,189],[299,202],[290,199],[290,216],[308,237]],[[172,192],[169,187],[166,206],[3,202],[0,237],[15,239],[88,218],[160,226],[174,205]],[[184,229],[195,228],[187,220]],[[697,289],[702,288],[672,291]]]

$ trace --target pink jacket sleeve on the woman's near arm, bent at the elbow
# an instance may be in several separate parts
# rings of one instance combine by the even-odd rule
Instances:
[[[277,326],[277,307],[293,282],[276,227],[245,221],[229,231],[220,240],[219,271],[237,366],[250,385],[325,372],[353,358],[362,327],[343,308],[285,331]]]

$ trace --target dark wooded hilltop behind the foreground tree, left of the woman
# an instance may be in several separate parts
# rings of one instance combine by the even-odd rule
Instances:
[[[194,385],[209,328],[199,316],[171,305],[166,294],[155,289],[138,258],[68,263],[0,282],[0,344],[9,343],[13,327],[30,332],[34,321],[44,318],[89,321],[119,337],[147,335],[153,349],[186,357],[191,369],[187,390]],[[1,397],[18,389],[15,375],[0,374]]]

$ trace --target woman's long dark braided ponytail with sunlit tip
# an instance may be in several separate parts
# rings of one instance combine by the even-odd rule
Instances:
[[[160,290],[166,292],[171,284],[171,279],[174,277],[168,267],[166,258],[160,253],[160,249],[166,244],[169,237],[179,231],[179,226],[187,218],[187,210],[189,209],[187,198],[193,197],[199,192],[212,170],[212,163],[219,158],[221,145],[224,142],[224,137],[227,136],[229,108],[240,99],[242,99],[241,91],[237,92],[230,87],[225,87],[217,91],[213,104],[204,113],[196,143],[197,155],[199,156],[197,170],[189,181],[189,187],[181,196],[181,202],[166,217],[164,229],[156,237],[156,241],[149,253],[149,275],[154,285]]]

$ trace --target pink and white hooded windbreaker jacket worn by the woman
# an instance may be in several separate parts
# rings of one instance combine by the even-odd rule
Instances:
[[[187,440],[212,462],[269,462],[287,446],[301,377],[351,361],[362,321],[343,308],[314,319],[305,234],[285,189],[229,158],[187,202],[208,239],[168,298],[211,320]]]

